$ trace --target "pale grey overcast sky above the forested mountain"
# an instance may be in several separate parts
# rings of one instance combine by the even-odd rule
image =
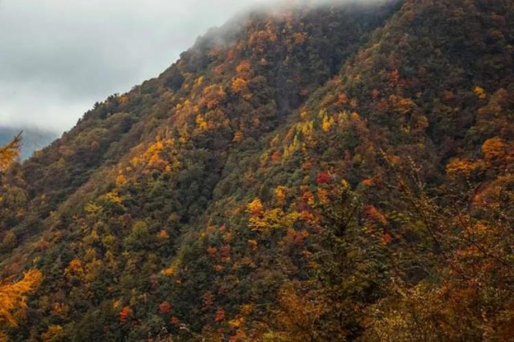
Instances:
[[[70,129],[263,1],[0,0],[0,127]]]

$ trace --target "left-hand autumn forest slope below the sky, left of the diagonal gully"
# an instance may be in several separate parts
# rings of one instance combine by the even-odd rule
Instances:
[[[162,304],[169,314],[173,265],[185,262],[176,252],[206,224],[228,160],[259,150],[394,8],[293,8],[229,23],[14,166],[3,176],[3,272],[34,260],[45,274],[29,313],[40,323],[16,337],[136,339],[177,327],[154,312]],[[191,323],[211,315],[200,308],[203,284],[178,306]]]

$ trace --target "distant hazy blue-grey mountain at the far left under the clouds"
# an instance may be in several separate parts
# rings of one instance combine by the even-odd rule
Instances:
[[[32,156],[36,150],[48,146],[58,137],[57,133],[42,131],[38,129],[14,129],[0,127],[0,145],[8,144],[13,137],[23,132],[23,144],[21,146],[21,159],[25,160]]]

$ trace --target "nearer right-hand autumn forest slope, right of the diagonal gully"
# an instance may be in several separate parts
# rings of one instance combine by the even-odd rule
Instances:
[[[509,1],[406,1],[267,148],[229,160],[176,298],[214,263],[201,290],[235,319],[248,314],[232,303],[274,302],[282,285],[277,320],[253,306],[245,331],[259,317],[298,340],[508,336],[513,288],[495,277],[513,271],[512,22]],[[346,229],[331,221],[348,188],[361,213],[334,247],[319,229]]]

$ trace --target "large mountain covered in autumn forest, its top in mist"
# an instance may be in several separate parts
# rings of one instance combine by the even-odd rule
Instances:
[[[14,341],[514,333],[514,3],[235,18],[2,174]],[[1,322],[0,322],[1,323]]]

